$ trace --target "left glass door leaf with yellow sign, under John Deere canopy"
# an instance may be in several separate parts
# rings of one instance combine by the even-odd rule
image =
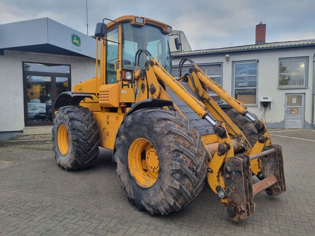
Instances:
[[[52,124],[52,77],[26,76],[26,123]]]

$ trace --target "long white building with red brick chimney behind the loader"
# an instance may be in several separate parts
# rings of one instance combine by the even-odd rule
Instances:
[[[315,39],[265,43],[265,35],[259,24],[256,44],[173,53],[173,76],[190,58],[268,127],[314,129]]]

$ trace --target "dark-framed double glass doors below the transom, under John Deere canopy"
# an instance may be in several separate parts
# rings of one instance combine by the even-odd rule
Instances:
[[[60,93],[69,91],[69,76],[24,75],[26,83],[24,117],[26,126],[52,125],[54,101]]]

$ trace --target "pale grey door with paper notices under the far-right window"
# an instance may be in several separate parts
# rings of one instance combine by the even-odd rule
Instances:
[[[285,128],[303,128],[304,127],[304,94],[286,94],[285,95]]]

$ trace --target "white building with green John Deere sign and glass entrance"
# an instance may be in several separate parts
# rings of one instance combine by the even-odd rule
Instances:
[[[94,38],[49,18],[0,25],[0,140],[52,125],[57,96],[95,77],[95,48]]]

